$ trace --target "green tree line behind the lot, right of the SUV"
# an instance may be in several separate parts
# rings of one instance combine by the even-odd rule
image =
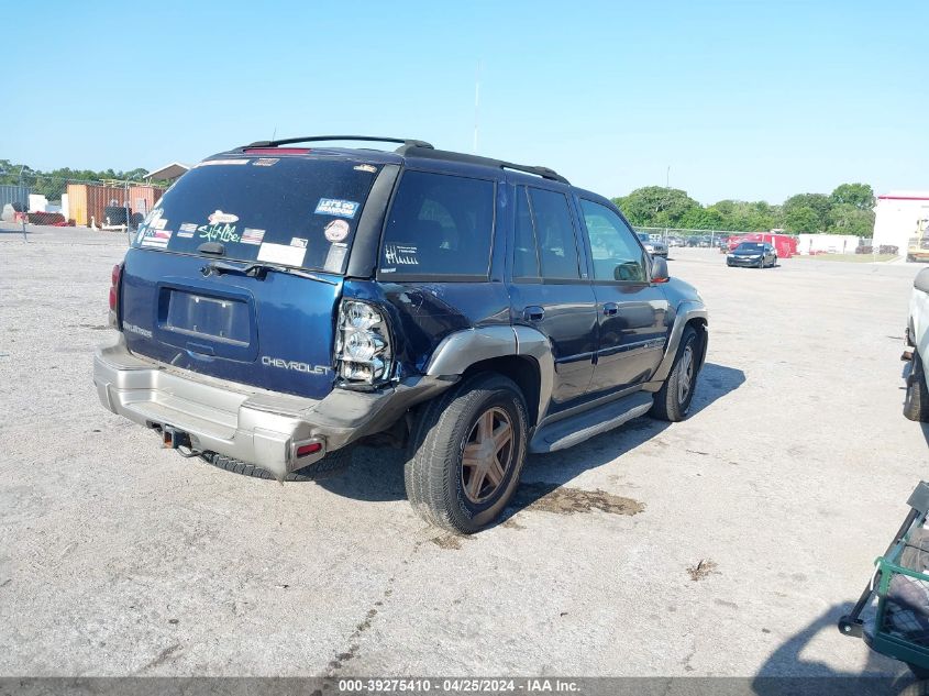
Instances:
[[[867,184],[842,184],[830,195],[797,194],[781,206],[763,200],[721,200],[701,206],[677,188],[646,186],[613,202],[643,228],[767,232],[783,229],[827,234],[871,236],[874,231],[874,190]]]

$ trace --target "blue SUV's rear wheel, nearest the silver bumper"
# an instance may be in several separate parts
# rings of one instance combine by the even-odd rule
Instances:
[[[456,533],[490,524],[519,485],[527,422],[519,387],[501,375],[478,375],[429,402],[405,467],[413,509]]]

